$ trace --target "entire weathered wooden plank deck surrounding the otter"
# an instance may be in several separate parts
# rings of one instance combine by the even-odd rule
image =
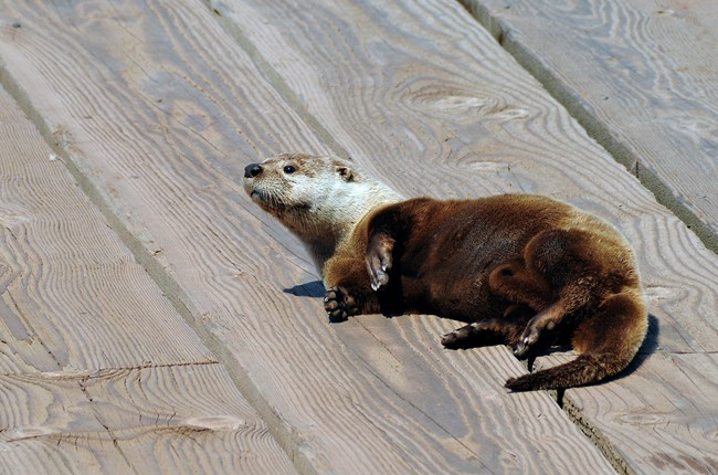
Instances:
[[[718,4],[658,3],[3,0],[0,473],[718,473]],[[636,363],[513,394],[451,320],[329,324],[241,187],[284,151],[614,223]]]

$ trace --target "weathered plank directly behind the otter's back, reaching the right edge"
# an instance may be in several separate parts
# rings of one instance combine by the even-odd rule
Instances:
[[[247,8],[247,3],[253,8]],[[341,142],[360,144],[347,147],[356,160],[376,169],[409,196],[539,192],[603,217],[636,249],[648,294],[656,296],[657,308],[652,312],[662,321],[662,345],[680,351],[718,348],[718,326],[712,318],[718,302],[714,285],[718,282],[716,256],[706,252],[675,215],[658,205],[635,178],[589,139],[535,81],[518,73],[510,59],[500,56],[493,40],[473,28],[460,7],[391,3],[380,9],[370,3],[362,12],[353,6],[320,1],[306,10],[260,2],[241,4],[241,14],[236,2],[229,4],[234,10],[226,11],[225,17],[256,41],[297,94],[316,97],[307,102],[308,107],[329,131]],[[264,24],[262,18],[268,19],[265,21],[270,24],[285,27],[268,36],[258,27]],[[357,27],[348,24],[345,18],[358,19]],[[432,24],[422,24],[422,18],[432,18]],[[299,34],[303,28],[315,23],[312,38]],[[371,33],[360,33],[365,23],[372,24],[367,28]],[[331,50],[321,50],[341,44],[337,31],[348,39],[346,42],[351,41],[347,48],[352,54],[332,55]],[[424,35],[434,32],[436,38],[420,48],[406,40],[415,38],[419,31]],[[325,32],[326,36],[321,36]],[[447,43],[458,46],[446,53]],[[392,63],[377,57],[377,44],[391,44]],[[292,68],[284,66],[283,60],[289,54],[302,60],[294,61]],[[332,67],[335,56],[345,57],[341,67]],[[499,57],[507,63],[501,63],[503,67],[496,66]],[[495,67],[486,67],[487,64]],[[351,71],[352,81],[346,81],[346,86],[340,83],[341,88],[332,87],[332,74],[345,70]],[[305,80],[310,71],[323,71],[317,83]],[[411,88],[409,81],[418,86]],[[365,83],[373,87],[353,89]],[[455,91],[451,92],[448,85]],[[367,91],[381,98],[361,101]],[[530,101],[524,97],[528,92]],[[411,101],[418,94],[431,99],[419,107]],[[436,103],[462,104],[461,98],[463,104],[496,104],[505,116],[496,118],[495,108],[482,110],[474,106],[473,115],[457,114],[462,110],[457,107],[458,110],[452,110],[457,115],[454,122],[446,116],[436,120]],[[408,103],[414,106],[411,114],[405,110]],[[341,115],[357,109],[358,104],[374,119],[358,120],[351,113]],[[510,110],[514,113],[509,114]],[[455,136],[451,146],[446,146],[442,134],[447,128]],[[414,148],[406,150],[409,146]],[[500,175],[497,170],[506,170],[514,183],[521,183],[520,189],[495,180]]]

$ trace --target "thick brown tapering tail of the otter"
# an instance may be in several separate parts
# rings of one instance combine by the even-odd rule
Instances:
[[[581,355],[572,361],[506,381],[511,391],[564,389],[601,381],[625,369],[648,328],[643,296],[631,289],[606,299],[572,338]]]

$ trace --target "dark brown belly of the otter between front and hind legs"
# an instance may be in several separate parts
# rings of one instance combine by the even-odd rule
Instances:
[[[556,220],[540,209],[505,209],[504,201],[496,197],[451,205],[434,200],[397,205],[405,207],[400,212],[413,214],[414,223],[395,266],[406,308],[467,321],[504,315],[509,303],[490,292],[492,271],[520,260],[530,239]]]

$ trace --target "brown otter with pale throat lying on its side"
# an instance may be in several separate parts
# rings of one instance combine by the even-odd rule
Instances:
[[[510,378],[566,389],[624,370],[648,326],[633,250],[601,219],[536,194],[405,199],[350,160],[285,154],[244,170],[252,200],[305,244],[331,321],[434,314],[467,323],[448,348],[551,346],[579,356]]]

